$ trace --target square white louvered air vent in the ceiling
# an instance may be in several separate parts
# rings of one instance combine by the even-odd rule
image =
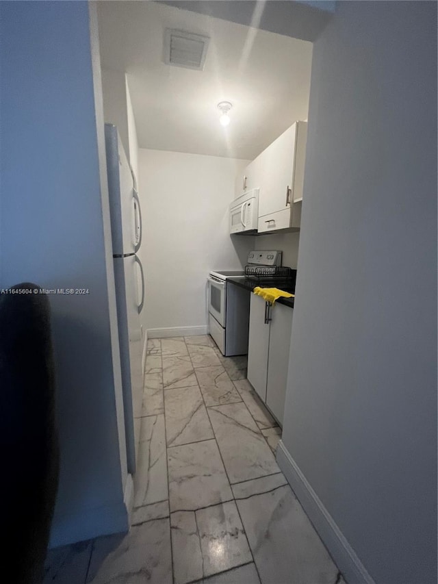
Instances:
[[[168,65],[202,71],[209,43],[208,36],[183,30],[166,29],[164,34],[164,62]]]

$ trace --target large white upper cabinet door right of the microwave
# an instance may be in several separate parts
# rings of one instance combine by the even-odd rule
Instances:
[[[292,200],[296,128],[294,123],[263,151],[264,178],[259,217],[290,209]]]

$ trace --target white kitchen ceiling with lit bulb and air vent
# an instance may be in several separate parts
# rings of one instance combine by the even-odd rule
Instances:
[[[253,160],[307,119],[312,44],[153,1],[100,1],[101,64],[126,72],[140,148]],[[166,28],[210,37],[203,71],[163,60]],[[220,101],[231,123],[219,124]]]

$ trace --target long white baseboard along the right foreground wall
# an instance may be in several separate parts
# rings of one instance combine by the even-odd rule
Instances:
[[[312,489],[304,474],[280,440],[276,459],[307,516],[313,523],[326,548],[331,553],[348,584],[375,584],[365,566],[357,557],[329,511]]]

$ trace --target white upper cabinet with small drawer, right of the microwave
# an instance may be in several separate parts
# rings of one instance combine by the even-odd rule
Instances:
[[[251,163],[263,169],[259,232],[299,229],[306,142],[307,122],[296,122]]]

